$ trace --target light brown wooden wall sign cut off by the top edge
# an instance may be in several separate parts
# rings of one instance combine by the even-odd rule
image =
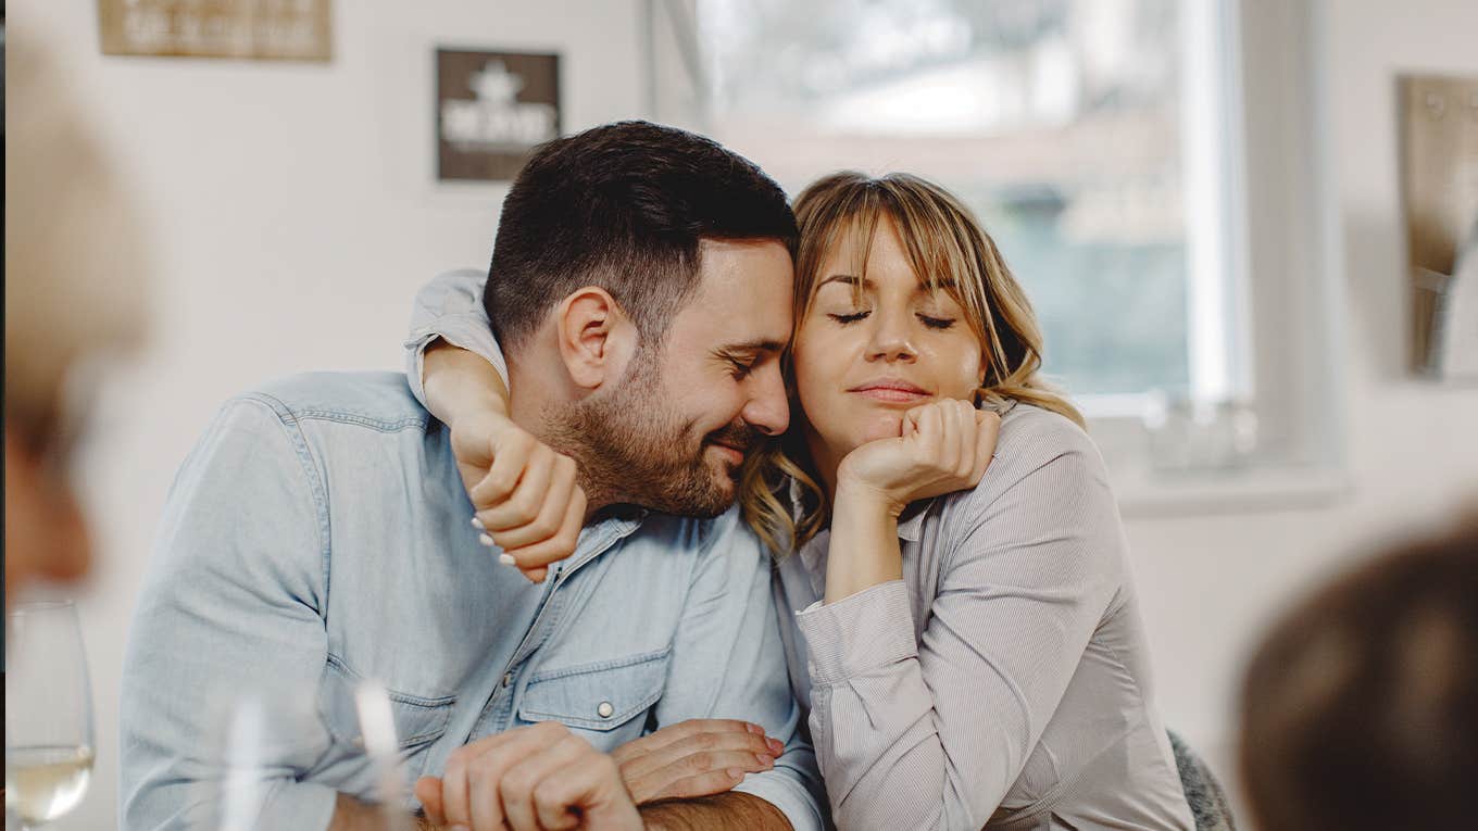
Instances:
[[[328,61],[333,0],[98,0],[103,55]]]

